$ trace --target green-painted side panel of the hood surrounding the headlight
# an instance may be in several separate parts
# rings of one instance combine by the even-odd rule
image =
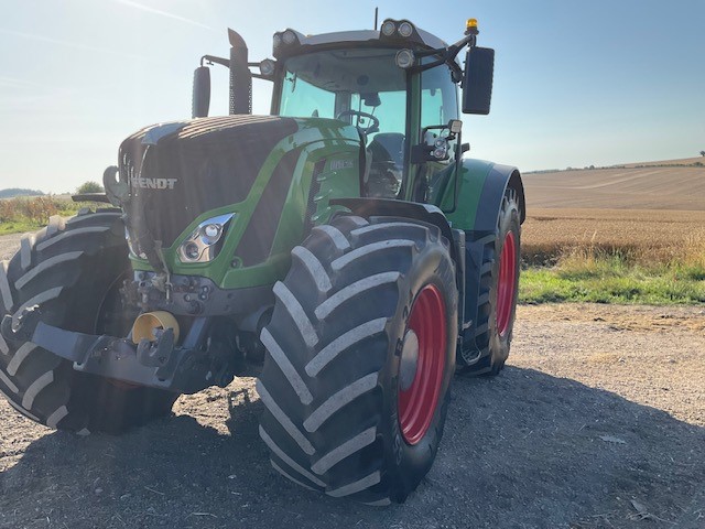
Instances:
[[[188,225],[171,247],[163,249],[171,273],[205,277],[223,289],[272,284],[286,274],[291,249],[304,237],[308,192],[316,164],[325,160],[323,170],[316,174],[319,190],[313,197],[316,209],[312,220],[315,224],[325,223],[336,209],[340,209],[339,206],[329,206],[329,199],[360,196],[360,136],[357,129],[330,119],[302,118],[296,119],[296,123],[299,130],[281,140],[272,149],[245,201],[204,212]],[[236,249],[275,168],[292,150],[299,151],[299,159],[271,253],[261,263],[242,267],[237,257],[234,259]],[[183,263],[177,256],[178,246],[183,240],[202,222],[229,213],[235,213],[235,217],[230,222],[218,256],[210,262]],[[147,260],[135,256],[130,258],[134,270],[152,270]]]

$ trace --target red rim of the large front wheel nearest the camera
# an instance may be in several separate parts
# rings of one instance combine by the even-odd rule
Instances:
[[[414,300],[404,334],[404,343],[415,336],[419,344],[413,380],[406,388],[402,387],[401,374],[399,380],[399,424],[409,444],[421,441],[436,411],[447,346],[445,327],[443,296],[429,284]]]

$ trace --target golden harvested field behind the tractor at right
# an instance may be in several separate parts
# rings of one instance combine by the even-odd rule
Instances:
[[[577,251],[640,264],[702,262],[705,168],[679,166],[697,161],[525,175],[525,260],[551,263]]]

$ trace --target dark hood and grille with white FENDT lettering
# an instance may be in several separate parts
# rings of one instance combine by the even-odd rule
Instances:
[[[130,136],[120,145],[119,170],[130,188],[123,208],[131,241],[142,250],[154,241],[170,247],[202,213],[243,201],[274,145],[297,128],[292,118],[241,115]]]

